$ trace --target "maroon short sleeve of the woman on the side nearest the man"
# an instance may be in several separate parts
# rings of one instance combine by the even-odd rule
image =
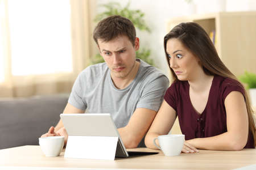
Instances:
[[[167,89],[166,94],[164,95],[164,100],[177,112],[177,104],[176,95],[175,95],[175,86],[176,83],[172,83],[172,85]]]

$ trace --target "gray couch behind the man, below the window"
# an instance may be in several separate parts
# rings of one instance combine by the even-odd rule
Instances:
[[[38,145],[38,138],[60,120],[68,95],[0,99],[0,149]]]

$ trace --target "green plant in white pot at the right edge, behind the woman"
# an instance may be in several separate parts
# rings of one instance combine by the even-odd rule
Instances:
[[[242,83],[247,84],[246,88],[249,90],[251,105],[256,107],[256,74],[245,71],[239,79]]]

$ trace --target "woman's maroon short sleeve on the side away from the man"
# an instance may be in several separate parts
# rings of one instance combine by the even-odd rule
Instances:
[[[232,91],[239,91],[245,98],[245,89],[243,88],[242,84],[238,82],[237,80],[233,79],[226,79],[223,84],[222,84],[222,96],[223,96],[223,101],[225,101],[226,96],[230,94]]]

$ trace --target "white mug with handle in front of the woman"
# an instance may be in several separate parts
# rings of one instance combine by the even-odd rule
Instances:
[[[156,145],[156,139],[158,139],[160,147]],[[154,138],[154,145],[162,150],[164,155],[175,156],[180,154],[184,141],[184,134],[159,135],[159,137]]]

